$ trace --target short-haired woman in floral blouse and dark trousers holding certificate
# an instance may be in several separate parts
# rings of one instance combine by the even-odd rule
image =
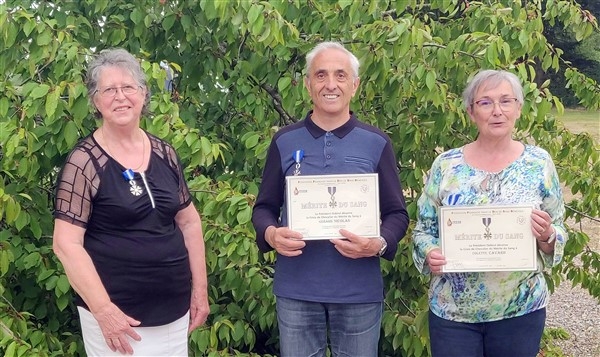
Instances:
[[[432,274],[431,352],[433,357],[535,357],[549,297],[542,269],[561,261],[567,240],[558,175],[545,150],[512,138],[523,104],[514,74],[481,71],[463,99],[479,134],[435,159],[413,233],[416,266]],[[438,208],[450,205],[533,206],[538,269],[444,273]]]

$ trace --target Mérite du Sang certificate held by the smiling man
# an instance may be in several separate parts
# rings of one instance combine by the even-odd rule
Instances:
[[[378,175],[286,177],[288,227],[303,239],[344,238],[340,229],[379,236]]]

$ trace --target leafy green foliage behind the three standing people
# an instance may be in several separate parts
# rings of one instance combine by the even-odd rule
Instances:
[[[552,117],[562,103],[536,84],[567,67],[581,105],[598,110],[600,88],[563,61],[542,20],[578,40],[597,36],[572,1],[4,1],[0,5],[0,352],[83,353],[72,291],[51,251],[53,185],[73,144],[96,126],[82,83],[95,51],[124,47],[142,59],[153,93],[143,126],[173,143],[202,214],[211,315],[191,336],[195,356],[274,355],[273,253],[259,253],[250,213],[273,133],[310,107],[304,54],[344,42],[361,61],[352,103],[392,138],[415,217],[433,158],[472,140],[461,92],[480,68],[514,71],[526,104],[516,136],[546,148],[574,194],[568,216],[598,217],[598,143]],[[488,4],[491,3],[491,4]],[[525,5],[522,5],[524,3]],[[587,17],[586,17],[587,18]],[[164,91],[167,61],[177,73]],[[566,276],[600,297],[600,257],[572,231]],[[410,234],[384,262],[382,356],[427,356],[427,278],[411,259]],[[576,265],[575,257],[583,264]]]

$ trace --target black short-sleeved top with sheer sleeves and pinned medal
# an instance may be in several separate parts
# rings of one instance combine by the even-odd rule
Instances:
[[[175,150],[147,135],[150,162],[132,180],[92,135],[81,140],[59,175],[54,217],[86,229],[84,248],[112,302],[141,326],[159,326],[190,307],[188,252],[174,218],[191,196]]]

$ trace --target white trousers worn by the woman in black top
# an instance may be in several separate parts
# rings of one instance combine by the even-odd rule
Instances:
[[[77,307],[85,352],[89,357],[124,356],[113,352],[106,344],[100,325],[88,310]],[[161,356],[188,357],[188,326],[190,313],[167,325],[156,327],[133,327],[141,337],[141,341],[129,338],[133,355],[127,356]]]

